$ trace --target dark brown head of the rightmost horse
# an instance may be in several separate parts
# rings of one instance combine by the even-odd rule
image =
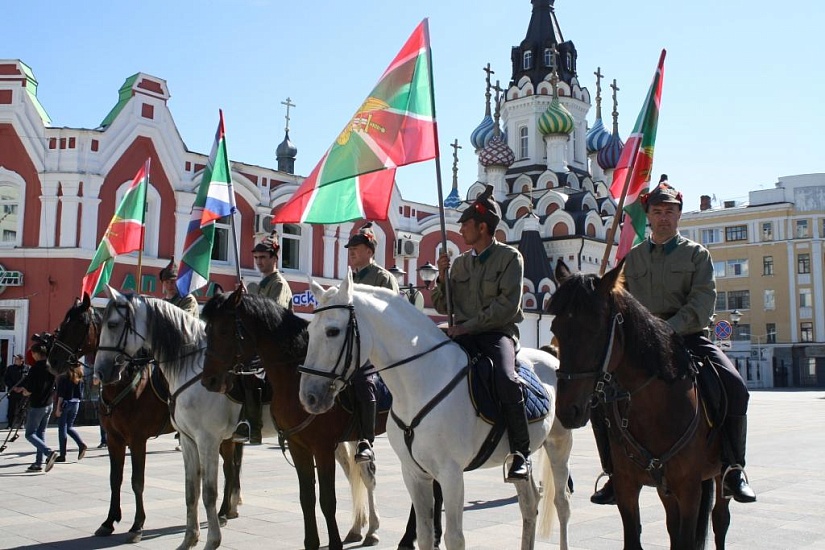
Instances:
[[[590,418],[596,382],[608,371],[611,353],[612,293],[622,285],[624,262],[606,273],[572,273],[556,264],[559,287],[547,310],[554,315],[552,331],[559,344],[556,417],[567,429],[580,428]]]

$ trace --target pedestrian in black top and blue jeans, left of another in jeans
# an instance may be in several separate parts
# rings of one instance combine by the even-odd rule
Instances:
[[[15,391],[29,398],[29,412],[26,415],[26,439],[37,453],[35,461],[29,466],[29,472],[46,472],[52,469],[57,459],[57,452],[46,444],[46,427],[54,407],[54,376],[46,365],[47,350],[43,343],[37,342],[29,348],[34,364],[26,378]],[[45,461],[45,463],[44,463]]]

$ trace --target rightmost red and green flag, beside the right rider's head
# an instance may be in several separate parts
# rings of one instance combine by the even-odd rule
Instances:
[[[645,238],[645,215],[639,197],[650,190],[650,174],[653,169],[653,146],[656,143],[656,126],[659,123],[659,106],[662,102],[662,83],[665,78],[665,54],[662,50],[653,83],[647,92],[642,110],[633,127],[633,134],[622,149],[622,155],[613,172],[610,194],[620,200],[625,194],[624,223],[616,249],[616,261],[630,252],[634,244]]]

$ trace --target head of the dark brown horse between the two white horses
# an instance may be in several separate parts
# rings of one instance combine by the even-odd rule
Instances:
[[[206,358],[201,384],[213,392],[226,393],[232,389],[235,369],[255,357],[239,311],[245,289],[216,294],[203,308],[206,320]]]

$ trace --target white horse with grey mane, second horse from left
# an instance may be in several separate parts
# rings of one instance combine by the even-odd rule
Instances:
[[[193,547],[200,537],[198,496],[203,490],[208,534],[206,549],[221,544],[215,502],[218,496],[218,450],[232,437],[241,406],[201,385],[206,351],[204,323],[164,300],[122,294],[107,286],[111,298],[103,313],[95,372],[103,384],[120,377],[128,360],[141,348],[150,350],[169,382],[170,412],[180,434],[186,476],[186,534],[179,550]],[[269,414],[263,414],[263,435],[277,435]],[[359,525],[364,515],[360,468],[351,460],[354,451],[339,446],[336,459],[351,474],[353,516]],[[359,527],[360,529],[360,527]]]

